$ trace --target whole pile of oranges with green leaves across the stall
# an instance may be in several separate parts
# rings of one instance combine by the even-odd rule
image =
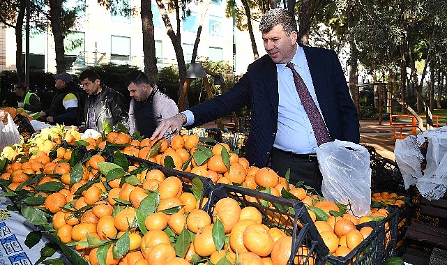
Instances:
[[[225,264],[286,264],[291,255],[291,236],[263,225],[255,207],[241,209],[236,200],[224,198],[210,216],[200,208],[206,198],[201,204],[196,195],[183,191],[179,177],[138,163],[129,165],[123,176],[107,179],[112,171],[105,169],[107,144],[119,146],[121,153],[171,164],[213,183],[241,185],[275,196],[287,190],[308,207],[331,255],[347,255],[372,232],[372,227],[357,229],[356,225],[388,214],[377,209],[371,216],[358,218],[338,204],[294,187],[267,167],[250,166],[227,144],[204,147],[197,135],[176,135],[170,144],[166,139],[139,141],[123,132],[82,140],[75,132],[52,136],[39,142],[51,149],[39,150],[36,141],[15,146],[0,179],[10,190],[24,189],[33,197],[44,197],[45,203],[37,207],[51,216],[54,234],[91,264],[218,264],[220,260]],[[63,147],[61,139],[74,145]],[[73,176],[75,166],[70,165],[77,143],[98,151],[82,162],[79,178]],[[59,183],[60,188],[44,192],[39,187],[45,183]]]

